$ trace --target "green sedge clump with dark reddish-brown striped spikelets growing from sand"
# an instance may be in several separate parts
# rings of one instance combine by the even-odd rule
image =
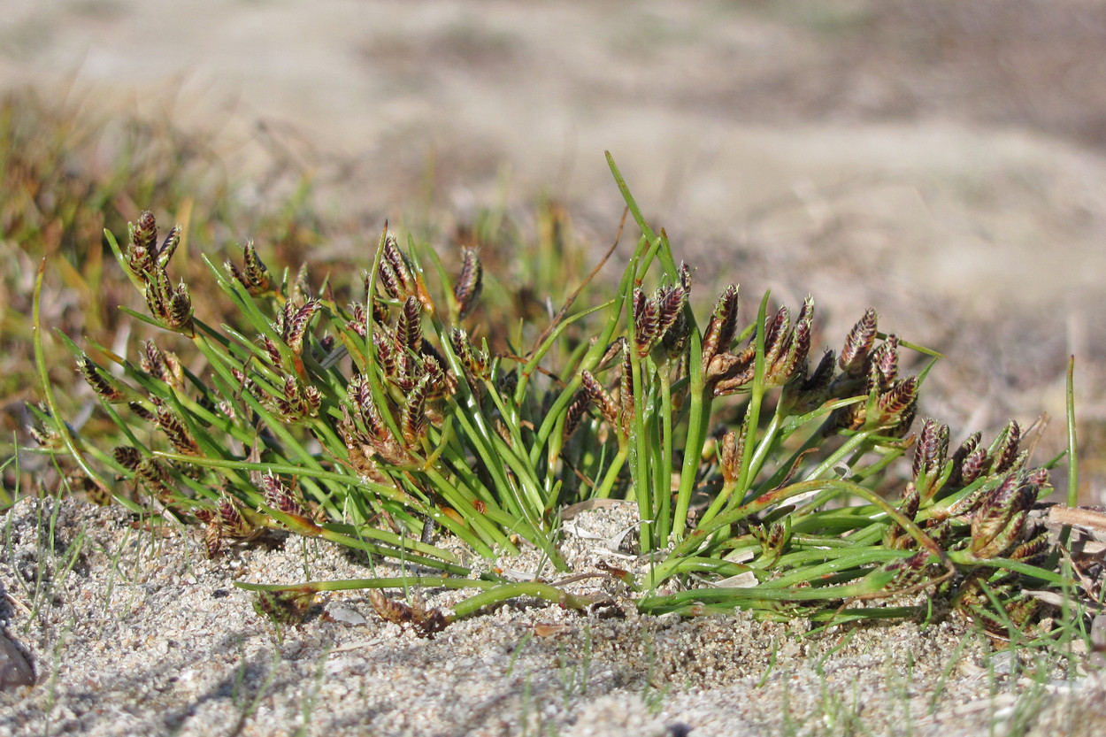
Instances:
[[[957,446],[947,425],[916,419],[937,354],[881,332],[874,310],[821,355],[811,298],[792,311],[765,294],[743,323],[730,286],[697,316],[691,270],[609,165],[641,233],[614,293],[570,299],[505,352],[472,319],[486,282],[473,248],[451,270],[385,227],[345,292],[273,273],[247,243],[240,259],[208,260],[239,315],[211,324],[173,266],[180,230],[159,238],[144,212],[107,239],[147,305],[124,312],[164,339],[128,357],[56,335],[125,442],[72,430],[40,357],[40,450],[71,456],[136,512],[205,526],[210,556],[284,530],[418,571],[238,584],[292,621],[319,591],[397,585],[476,590],[451,613],[374,594],[382,615],[427,635],[514,596],[582,608],[587,598],[504,580],[440,541],[488,560],[533,546],[566,571],[560,510],[625,498],[651,564],[611,574],[643,612],[841,622],[927,616],[942,601],[997,632],[1031,625],[1044,605],[1023,590],[1065,580],[1029,513],[1051,490],[1047,466],[1031,467],[1019,426]],[[905,375],[904,351],[926,362],[919,375]]]

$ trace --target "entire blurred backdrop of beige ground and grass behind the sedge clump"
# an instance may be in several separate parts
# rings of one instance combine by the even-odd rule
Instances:
[[[606,149],[703,301],[810,292],[830,347],[873,305],[945,352],[922,409],[954,442],[1048,417],[1035,460],[1062,450],[1074,354],[1104,504],[1104,50],[1102,0],[6,0],[4,430],[42,253],[48,320],[93,335],[100,229],[146,208],[293,268],[362,263],[386,218],[448,246],[544,212],[589,264],[623,210]]]

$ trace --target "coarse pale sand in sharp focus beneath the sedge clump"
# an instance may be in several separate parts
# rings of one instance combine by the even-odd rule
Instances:
[[[583,534],[565,540],[566,558],[581,572],[632,565],[586,538],[611,537],[630,515],[574,519]],[[0,615],[39,684],[0,693],[0,733],[952,737],[1092,735],[1106,716],[1095,672],[1011,674],[1009,654],[956,619],[806,634],[804,622],[740,613],[640,617],[603,579],[568,590],[603,589],[613,606],[518,600],[435,640],[383,622],[364,592],[320,598],[304,625],[276,631],[232,581],[373,573],[302,539],[208,561],[187,532],[128,522],[71,500],[7,515]],[[538,560],[503,564],[529,571]],[[430,591],[427,604],[461,595]]]

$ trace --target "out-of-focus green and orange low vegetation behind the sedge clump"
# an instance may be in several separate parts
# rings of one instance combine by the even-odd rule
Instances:
[[[309,253],[320,277],[365,268],[365,256],[379,237],[380,217],[321,217],[309,166],[274,149],[262,174],[246,180],[228,170],[217,139],[216,132],[182,129],[171,111],[152,120],[91,112],[81,100],[48,101],[32,90],[0,97],[0,448],[30,442],[27,404],[41,398],[30,315],[35,273],[44,258],[43,324],[121,353],[149,335],[140,332],[142,325],[121,323],[118,305],[142,308],[142,300],[112,263],[104,230],[126,232],[127,222],[145,209],[181,225],[176,274],[197,287],[212,287],[201,293],[198,309],[213,324],[229,320],[233,308],[190,252],[220,252],[237,260],[250,239],[278,273],[296,273]],[[459,247],[476,247],[495,273],[517,286],[490,290],[503,297],[480,305],[489,315],[532,319],[545,313],[578,284],[578,274],[586,273],[586,249],[576,240],[566,209],[555,201],[542,201],[520,217],[499,207],[461,221],[425,212],[413,220],[421,224],[421,237],[453,247],[442,249],[449,251],[447,263],[455,263],[450,258]],[[321,253],[315,247],[324,242],[332,246]],[[528,258],[515,258],[520,251]],[[552,301],[542,301],[546,298]],[[488,338],[495,350],[507,351],[510,336],[520,338],[522,328],[504,325],[503,319]],[[132,329],[139,332],[132,334]],[[59,408],[70,422],[85,422],[94,395],[64,346],[48,338],[44,347],[50,378],[59,387]],[[95,351],[93,357],[105,359]],[[111,424],[85,429],[108,436],[117,432]],[[35,488],[27,473],[41,459],[23,461],[21,488],[27,492]],[[15,467],[4,469],[4,489],[15,488]]]

